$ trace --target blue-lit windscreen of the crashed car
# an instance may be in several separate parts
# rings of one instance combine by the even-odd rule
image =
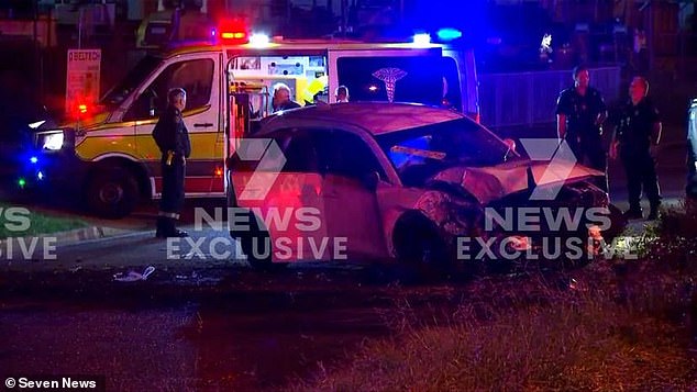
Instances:
[[[435,173],[453,166],[494,166],[518,158],[500,138],[469,119],[392,132],[376,139],[400,177],[414,166]]]

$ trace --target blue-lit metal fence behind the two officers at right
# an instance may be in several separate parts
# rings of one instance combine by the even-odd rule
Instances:
[[[620,98],[620,67],[590,68],[590,83],[606,102]],[[479,75],[482,123],[488,127],[534,126],[556,120],[560,91],[572,86],[571,70]]]

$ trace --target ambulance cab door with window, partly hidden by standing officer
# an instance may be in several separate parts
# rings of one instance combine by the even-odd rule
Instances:
[[[191,138],[185,191],[187,195],[224,194],[223,150],[218,142],[221,135],[218,113],[219,57],[215,53],[196,54],[177,57],[165,64],[144,85],[145,88],[123,115],[123,121],[134,124],[139,158],[147,163],[155,197],[159,197],[162,190],[162,173],[161,153],[152,132],[167,107],[169,89],[175,87],[181,87],[187,92],[187,107],[182,115]]]

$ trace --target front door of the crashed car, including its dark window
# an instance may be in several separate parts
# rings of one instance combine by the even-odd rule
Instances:
[[[374,152],[355,133],[332,130],[319,135],[322,199],[328,235],[343,250],[340,258],[387,256],[376,188],[386,179]]]

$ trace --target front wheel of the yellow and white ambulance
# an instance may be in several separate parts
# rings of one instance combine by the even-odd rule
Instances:
[[[137,200],[137,182],[126,169],[98,170],[98,173],[90,177],[87,186],[87,204],[98,216],[126,216],[135,209]]]

